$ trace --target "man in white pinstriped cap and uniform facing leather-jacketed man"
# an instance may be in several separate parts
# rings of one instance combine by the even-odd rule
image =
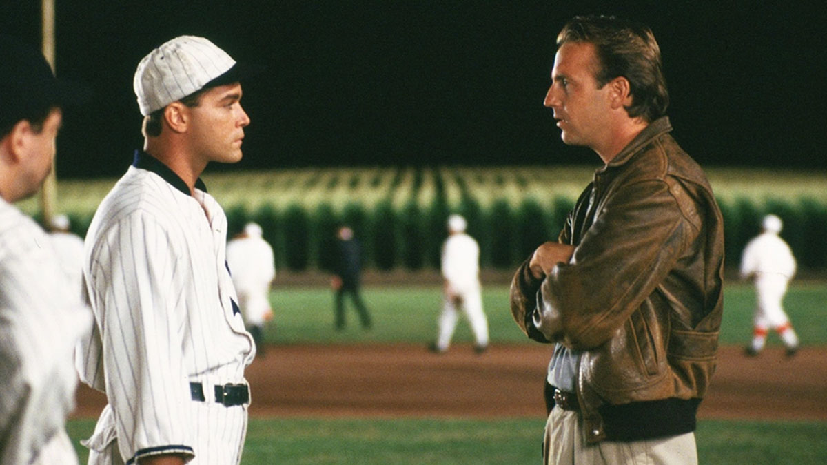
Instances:
[[[227,269],[227,217],[198,177],[241,160],[251,73],[202,37],[138,65],[144,150],[98,207],[84,280],[95,318],[81,378],[107,395],[89,463],[239,463],[255,344]]]

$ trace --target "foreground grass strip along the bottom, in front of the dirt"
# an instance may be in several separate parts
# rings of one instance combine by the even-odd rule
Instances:
[[[272,463],[507,463],[540,461],[543,419],[251,419],[244,465]],[[69,422],[85,463],[94,421]],[[699,463],[825,463],[827,423],[704,420]]]

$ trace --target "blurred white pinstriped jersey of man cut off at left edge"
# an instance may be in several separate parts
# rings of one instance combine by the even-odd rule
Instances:
[[[65,419],[90,322],[50,237],[0,199],[0,463],[78,463]]]

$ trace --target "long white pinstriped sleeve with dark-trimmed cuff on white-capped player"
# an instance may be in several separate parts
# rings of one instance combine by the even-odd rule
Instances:
[[[124,461],[156,453],[194,453],[194,408],[184,370],[188,264],[170,228],[135,213],[95,245],[91,275],[103,328],[106,391]]]

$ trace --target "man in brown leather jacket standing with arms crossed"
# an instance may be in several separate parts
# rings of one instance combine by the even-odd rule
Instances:
[[[558,241],[538,247],[511,285],[519,327],[556,343],[545,463],[697,463],[696,410],[723,310],[720,211],[669,135],[652,31],[575,17],[557,46],[544,104],[562,141],[605,165]]]

